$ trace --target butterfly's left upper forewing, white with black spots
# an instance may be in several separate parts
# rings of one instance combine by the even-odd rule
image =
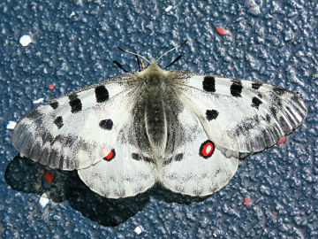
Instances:
[[[133,82],[125,74],[42,104],[19,121],[12,143],[25,157],[52,168],[94,165],[110,154],[132,118],[138,90]]]

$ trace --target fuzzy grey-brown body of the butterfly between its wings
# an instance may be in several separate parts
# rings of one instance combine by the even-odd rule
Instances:
[[[173,75],[152,61],[146,70],[136,73],[136,76],[142,82],[141,96],[136,107],[136,113],[143,120],[143,124],[139,124],[138,127],[139,135],[148,142],[148,147],[155,156],[162,158],[170,140],[170,122],[176,115],[171,113],[171,108],[174,107],[171,103],[176,102],[170,88],[173,84]]]

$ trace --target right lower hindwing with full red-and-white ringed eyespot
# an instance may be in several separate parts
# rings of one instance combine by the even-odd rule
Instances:
[[[167,189],[191,196],[221,189],[238,168],[239,152],[210,141],[200,120],[186,107],[178,115],[178,124],[181,140],[170,145],[174,150],[164,159],[158,180]]]

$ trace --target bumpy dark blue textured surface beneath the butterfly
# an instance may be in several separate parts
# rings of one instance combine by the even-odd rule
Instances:
[[[318,238],[317,5],[303,0],[2,1],[0,237]],[[230,34],[220,35],[215,27]],[[33,42],[21,46],[21,35],[31,35]],[[118,45],[156,57],[183,39],[188,43],[163,58],[163,66],[182,54],[171,69],[298,91],[308,107],[303,125],[286,143],[242,160],[230,183],[211,197],[180,197],[155,188],[109,200],[87,189],[75,172],[61,171],[43,188],[45,168],[17,156],[9,120],[18,121],[36,99],[48,101],[122,73],[113,60],[135,71],[135,58]],[[38,200],[45,191],[50,200],[43,208]],[[142,229],[140,235],[135,227]]]

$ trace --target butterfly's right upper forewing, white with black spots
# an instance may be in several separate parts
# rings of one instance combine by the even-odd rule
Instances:
[[[176,91],[180,101],[198,117],[208,138],[223,148],[263,150],[299,127],[307,108],[287,89],[254,81],[182,75]]]

